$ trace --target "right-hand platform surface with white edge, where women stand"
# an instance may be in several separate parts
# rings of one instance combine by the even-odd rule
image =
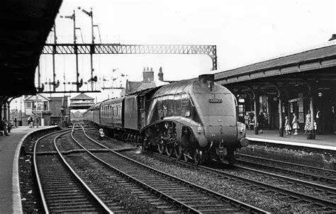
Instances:
[[[325,133],[315,135],[315,140],[308,140],[307,135],[303,131],[299,131],[298,135],[279,136],[279,130],[263,130],[263,133],[254,134],[254,130],[247,130],[246,137],[249,140],[279,143],[286,145],[295,145],[302,147],[313,147],[323,150],[336,150],[336,133]]]

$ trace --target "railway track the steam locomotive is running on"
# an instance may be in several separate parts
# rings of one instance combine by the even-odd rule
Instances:
[[[173,159],[157,153],[150,155],[154,155],[156,159],[163,159],[162,162]],[[335,212],[336,210],[336,190],[330,186],[313,184],[247,167],[235,167],[234,170],[228,170],[218,164],[219,168],[213,169],[213,167],[195,166],[191,163],[174,160],[180,166],[197,169],[198,176],[208,176],[209,180],[213,177],[220,177],[223,182],[237,182],[240,186],[245,186],[246,189],[253,189],[262,194],[281,198],[281,201],[285,203],[295,202],[310,206],[316,212]]]

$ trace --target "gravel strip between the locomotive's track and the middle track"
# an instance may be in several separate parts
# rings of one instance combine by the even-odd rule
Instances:
[[[220,177],[213,176],[211,174],[204,175],[198,174],[195,169],[188,169],[185,167],[177,166],[174,163],[167,163],[155,159],[144,154],[135,154],[135,152],[128,151],[122,152],[133,159],[138,160],[150,167],[165,171],[168,174],[177,176],[181,179],[186,179],[194,184],[209,188],[223,195],[235,198],[239,201],[255,205],[264,210],[269,210],[272,213],[310,213],[313,212],[311,206],[306,206],[305,203],[288,203],[281,200],[281,196],[274,195],[273,193],[265,194],[254,191],[253,189],[247,189],[237,185],[236,181],[223,181]],[[234,170],[228,169],[228,171],[235,173]]]

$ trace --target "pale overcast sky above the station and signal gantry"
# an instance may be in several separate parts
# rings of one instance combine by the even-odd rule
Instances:
[[[57,43],[73,42],[72,20],[60,18],[70,16],[73,10],[76,26],[81,28],[77,30],[77,43],[91,42],[91,19],[78,6],[93,10],[94,25],[99,26],[99,32],[98,28],[94,31],[95,43],[217,45],[216,72],[326,43],[336,33],[334,0],[64,0],[55,20]],[[52,37],[50,33],[47,43],[53,42]],[[52,77],[51,59],[51,55],[40,57],[42,82]],[[76,79],[74,59],[72,55],[56,55],[60,89],[64,89],[64,77],[66,82]],[[94,75],[100,79],[118,78],[113,83],[104,82],[105,86],[124,86],[125,79],[140,81],[143,67],[152,67],[155,75],[162,67],[165,80],[212,72],[207,55],[94,55]],[[79,73],[79,79],[89,79],[89,55],[79,56]],[[50,91],[48,86],[45,90]],[[98,99],[111,98],[118,92],[108,97],[106,91],[102,94]]]

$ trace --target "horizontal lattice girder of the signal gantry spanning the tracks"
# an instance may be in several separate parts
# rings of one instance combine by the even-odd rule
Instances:
[[[217,69],[216,45],[46,44],[42,54],[181,54],[208,55]]]

